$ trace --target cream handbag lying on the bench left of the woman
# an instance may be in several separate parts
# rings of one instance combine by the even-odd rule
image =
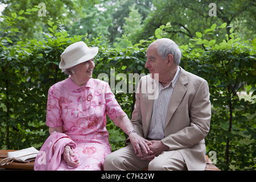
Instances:
[[[18,151],[8,152],[7,158],[3,159],[0,162],[1,166],[8,165],[12,163],[14,160],[18,162],[31,162],[35,160],[36,156],[38,155],[38,150],[36,150],[34,147],[25,148]]]

